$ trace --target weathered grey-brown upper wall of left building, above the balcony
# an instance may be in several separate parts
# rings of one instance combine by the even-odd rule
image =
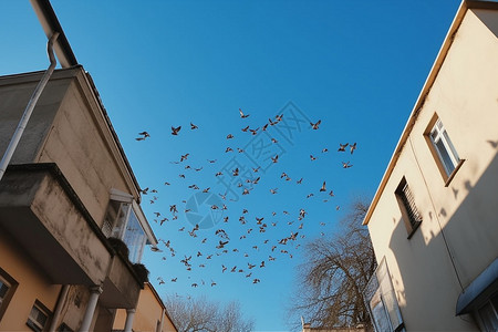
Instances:
[[[3,153],[42,72],[0,77]],[[58,70],[43,91],[11,164],[55,163],[101,225],[110,190],[138,191],[82,68]]]

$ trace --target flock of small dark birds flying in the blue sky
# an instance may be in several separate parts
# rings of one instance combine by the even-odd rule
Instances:
[[[240,108],[239,115],[242,120],[246,120],[250,116],[249,114],[243,113]],[[246,125],[241,128],[241,132],[249,133],[253,136],[258,135],[261,132],[269,132],[269,128],[271,128],[271,126],[278,126],[280,122],[284,121],[283,116],[284,114],[279,114],[274,118],[269,118],[268,123],[266,123],[261,127],[251,128],[250,125]],[[318,131],[320,125],[320,120],[315,123],[310,122],[310,128],[312,131]],[[199,127],[190,122],[190,131],[197,129],[199,129]],[[170,134],[174,136],[181,135],[181,126],[172,126]],[[231,142],[230,139],[232,139],[234,137],[235,135],[232,133],[226,135],[226,139],[228,142]],[[141,132],[135,139],[151,139],[151,135],[147,132]],[[274,144],[278,143],[278,141],[273,137],[271,138],[271,142]],[[341,143],[339,144],[338,153],[352,155],[355,149],[356,143]],[[237,151],[238,153],[243,153],[243,149],[240,147],[236,147],[236,149],[234,149],[232,147],[228,146],[227,148],[225,148],[225,154],[235,153],[235,151]],[[325,154],[328,152],[328,148],[323,148],[321,151],[322,154]],[[184,155],[180,155],[178,159],[170,162],[175,165],[185,165],[181,173],[178,174],[178,177],[181,179],[186,179],[186,172],[206,173],[207,169],[210,168],[207,167],[208,165],[217,163],[217,159],[207,159],[207,165],[193,167],[187,164],[189,157],[190,154],[186,153]],[[317,160],[317,156],[310,155],[311,162]],[[272,164],[279,163],[279,154],[272,155],[270,159]],[[342,168],[351,168],[352,166],[353,165],[350,162],[342,162]],[[259,184],[262,177],[262,175],[259,176],[261,166],[250,168],[255,176],[251,178],[246,178],[245,180],[240,179],[237,184],[237,187],[240,188],[240,194],[242,196],[249,195],[252,189],[255,189],[255,186]],[[226,170],[224,172],[226,173]],[[216,173],[212,173],[211,176],[214,176],[215,178],[224,176],[224,172],[218,170]],[[240,172],[241,170],[239,169],[239,167],[235,167],[230,169],[229,174],[225,174],[225,176],[230,176],[237,179],[238,177],[240,177]],[[292,178],[287,173],[282,172],[280,175],[280,180],[290,183],[292,181]],[[173,181],[165,181],[164,185],[170,186],[172,183]],[[302,183],[302,177],[295,180],[295,185],[301,185]],[[227,211],[226,215],[222,215],[222,217],[218,217],[218,222],[214,225],[212,229],[203,229],[203,227],[198,224],[191,225],[191,227],[180,225],[181,227],[178,228],[178,225],[175,224],[174,220],[178,219],[180,212],[185,212],[186,215],[191,212],[191,209],[187,208],[187,200],[185,199],[181,200],[183,208],[180,208],[179,204],[170,204],[166,214],[164,211],[154,212],[154,221],[159,226],[167,227],[172,230],[173,227],[175,227],[178,232],[184,232],[190,238],[198,240],[198,245],[194,248],[194,252],[190,252],[188,255],[185,255],[184,252],[181,255],[178,255],[178,252],[174,249],[170,239],[159,239],[159,243],[162,245],[160,247],[164,247],[164,249],[156,249],[156,251],[163,252],[163,260],[169,260],[176,257],[178,262],[189,272],[206,268],[206,266],[209,262],[212,262],[217,257],[221,257],[222,259],[224,256],[227,256],[229,253],[237,253],[243,256],[243,258],[238,258],[236,260],[237,264],[230,266],[227,262],[222,261],[219,264],[219,271],[221,271],[221,273],[240,274],[243,276],[247,280],[250,280],[250,282],[252,283],[259,283],[261,281],[261,277],[259,274],[261,273],[258,273],[258,271],[261,271],[261,269],[264,269],[268,263],[277,260],[278,258],[292,258],[292,251],[300,247],[299,239],[305,237],[303,228],[304,219],[308,212],[303,208],[300,208],[297,212],[289,212],[288,210],[282,210],[279,212],[272,211],[270,217],[257,215],[252,215],[252,217],[250,217],[251,214],[249,212],[249,209],[243,208],[236,218],[230,219],[234,214],[230,214],[230,216],[228,215],[228,210],[230,209],[229,201],[235,199],[227,199],[227,193],[212,193],[211,187],[201,188],[198,184],[189,184],[187,185],[187,188],[189,190],[193,190],[193,193],[216,195],[219,198],[218,201],[220,201],[220,204],[211,204],[208,207],[209,211],[207,214],[214,211]],[[279,193],[279,188],[270,188],[269,191],[270,195],[277,195]],[[152,205],[156,204],[159,198],[157,188],[147,187],[142,189],[141,193],[142,195],[147,196],[147,198],[149,197],[149,204]],[[334,196],[334,193],[333,190],[326,188],[326,181],[323,180],[321,187],[317,188],[314,193],[309,193],[305,196],[305,199],[309,199],[315,195],[320,196],[321,199],[326,203],[331,197]],[[339,210],[340,206],[336,206],[335,209]],[[284,218],[284,220],[279,220],[279,218]],[[234,224],[237,224],[237,227],[230,227]],[[185,225],[188,225],[188,222],[186,222]],[[325,226],[325,222],[320,222],[320,225]],[[286,227],[286,229],[282,229],[283,227]],[[236,230],[234,230],[234,228],[236,228]],[[211,231],[211,235],[206,235],[206,232],[208,231]],[[204,236],[200,236],[200,232]],[[236,235],[234,235],[234,232],[236,232]],[[267,237],[267,235],[269,234],[271,234],[271,236]],[[322,231],[321,235],[323,236],[324,232]],[[248,245],[249,240],[251,240],[250,245]],[[234,243],[239,243],[241,247]],[[245,250],[239,250],[239,248],[237,247],[245,248]],[[168,255],[164,252],[167,252]],[[257,255],[255,255],[255,252]],[[262,252],[264,252],[263,256],[261,256]],[[261,257],[263,258],[261,259]],[[199,273],[199,276],[205,273]],[[178,281],[178,277],[168,279],[170,282]],[[190,277],[188,277],[188,279],[190,279]],[[157,281],[158,284],[164,284],[167,280],[165,280],[165,278],[163,277],[157,277]],[[210,281],[199,279],[195,282],[191,282],[190,286],[193,288],[197,288],[199,286],[215,287],[217,286],[217,282],[214,279],[210,279]]]

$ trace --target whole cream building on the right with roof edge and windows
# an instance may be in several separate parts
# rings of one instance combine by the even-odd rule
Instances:
[[[364,224],[377,331],[498,329],[498,3],[464,1]]]

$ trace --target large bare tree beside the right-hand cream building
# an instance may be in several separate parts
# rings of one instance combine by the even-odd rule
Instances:
[[[307,262],[301,266],[299,292],[290,312],[322,328],[371,328],[362,291],[375,271],[376,261],[362,220],[369,205],[357,199],[339,229],[305,247]]]

